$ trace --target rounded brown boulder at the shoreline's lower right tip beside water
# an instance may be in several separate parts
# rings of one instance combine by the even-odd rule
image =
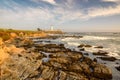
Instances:
[[[109,68],[102,64],[95,64],[93,67],[93,76],[96,78],[110,80],[112,79],[112,72]]]

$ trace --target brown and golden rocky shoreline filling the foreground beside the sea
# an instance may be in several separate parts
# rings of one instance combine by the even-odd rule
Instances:
[[[112,79],[108,67],[84,56],[82,50],[72,51],[64,44],[35,44],[29,38],[0,42],[1,80]]]

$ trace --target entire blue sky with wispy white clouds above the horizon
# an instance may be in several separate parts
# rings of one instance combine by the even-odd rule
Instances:
[[[0,28],[120,32],[120,0],[0,0]]]

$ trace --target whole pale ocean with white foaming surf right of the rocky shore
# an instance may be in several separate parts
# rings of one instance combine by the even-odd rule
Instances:
[[[88,56],[91,59],[96,58],[98,63],[104,64],[111,69],[113,75],[112,80],[120,80],[120,76],[119,76],[120,72],[116,69],[116,67],[120,66],[120,33],[114,33],[114,32],[73,33],[72,32],[72,33],[65,33],[60,35],[58,34],[54,36],[58,36],[58,38],[42,39],[42,42],[40,43],[64,44],[66,48],[75,51],[80,51],[78,48],[80,44],[91,45],[92,47],[85,47],[85,51],[83,51],[83,53],[87,52],[89,54],[85,56]],[[37,41],[41,41],[41,39],[37,39]],[[96,46],[103,46],[103,48],[94,48]],[[97,52],[99,50],[108,52],[107,54],[108,56],[115,57],[117,60],[105,61],[97,58],[101,56],[95,56],[92,54],[93,52]],[[48,59],[49,58],[45,59],[45,61],[48,61]]]

